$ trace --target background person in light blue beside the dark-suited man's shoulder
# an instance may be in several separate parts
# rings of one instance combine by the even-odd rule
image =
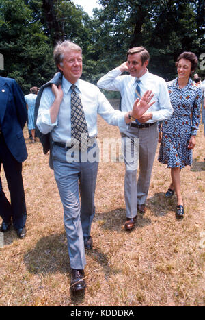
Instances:
[[[29,95],[25,95],[25,101],[28,109],[28,129],[31,130],[32,142],[35,143],[35,123],[34,123],[34,110],[36,97],[38,95],[38,87],[32,86]]]

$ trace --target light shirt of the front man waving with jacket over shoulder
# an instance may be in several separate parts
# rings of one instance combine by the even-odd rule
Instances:
[[[100,116],[102,116],[102,118],[110,125],[118,125],[120,130],[126,130],[127,125],[124,120],[125,112],[114,110],[97,86],[81,79],[79,79],[75,85],[77,86],[76,90],[79,93],[83,104],[90,138],[97,135],[98,114],[100,114]],[[55,123],[51,123],[50,116],[50,108],[55,99],[51,87],[44,88],[42,93],[36,124],[43,134],[52,131],[53,141],[68,143],[71,140],[71,86],[72,84],[63,77],[62,89],[64,97],[61,101]]]

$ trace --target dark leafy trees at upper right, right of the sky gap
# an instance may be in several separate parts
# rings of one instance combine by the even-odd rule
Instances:
[[[99,0],[99,20],[113,27],[115,47],[143,45],[150,52],[149,69],[165,78],[176,75],[174,61],[182,51],[204,52],[204,1]],[[109,34],[111,36],[111,34]],[[110,41],[109,41],[110,43]],[[111,51],[107,47],[111,56]]]

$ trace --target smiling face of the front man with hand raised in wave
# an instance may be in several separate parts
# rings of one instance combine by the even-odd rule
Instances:
[[[83,58],[80,51],[65,51],[62,64],[57,65],[64,77],[71,83],[75,84],[83,72]]]

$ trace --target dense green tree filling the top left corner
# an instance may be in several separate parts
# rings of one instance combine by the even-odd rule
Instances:
[[[23,0],[0,0],[0,52],[8,77],[27,93],[53,75],[52,48]]]

